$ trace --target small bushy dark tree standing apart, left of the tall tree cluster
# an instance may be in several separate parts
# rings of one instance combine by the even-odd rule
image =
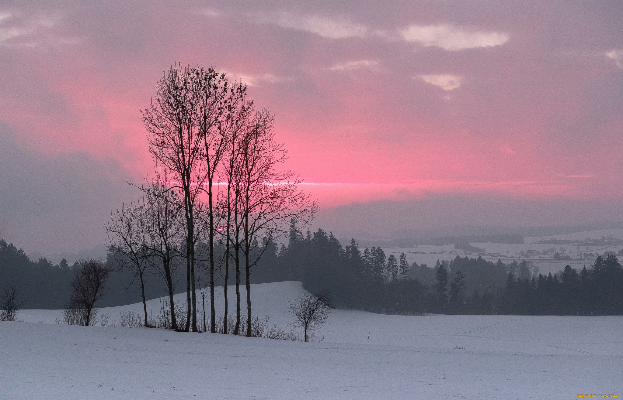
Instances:
[[[110,269],[102,261],[83,259],[79,263],[74,279],[70,282],[71,296],[68,310],[82,310],[83,318],[80,325],[89,326],[92,323],[95,304],[107,293],[106,280],[110,276]]]

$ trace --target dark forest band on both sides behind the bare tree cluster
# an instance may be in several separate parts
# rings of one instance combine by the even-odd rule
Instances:
[[[72,267],[52,265],[46,259],[28,259],[12,244],[0,256],[0,287],[22,286],[27,308],[62,308],[69,296]],[[388,314],[518,314],[518,315],[622,315],[623,268],[616,256],[598,257],[592,266],[577,271],[566,266],[557,274],[537,273],[522,261],[492,263],[483,258],[460,258],[435,266],[409,264],[404,253],[386,256],[379,247],[363,251],[353,239],[343,247],[324,230],[302,231],[292,221],[288,244],[270,239],[255,241],[259,261],[251,283],[302,281],[310,292],[328,290],[333,305]],[[219,259],[224,248],[215,247]],[[201,265],[201,246],[197,249]],[[261,254],[261,257],[260,257]],[[114,254],[107,263],[113,266]],[[182,272],[182,269],[179,271]],[[197,281],[205,286],[201,267]],[[183,279],[176,279],[184,291]],[[100,307],[140,301],[128,271],[112,274],[110,292]],[[166,295],[157,279],[147,279],[148,298]],[[222,278],[217,279],[222,284]]]

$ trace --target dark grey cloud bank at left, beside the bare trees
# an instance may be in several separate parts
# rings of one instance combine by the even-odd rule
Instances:
[[[123,182],[131,175],[117,174],[85,152],[28,151],[9,132],[0,125],[0,234],[27,251],[44,253],[103,243],[110,211],[138,197]]]

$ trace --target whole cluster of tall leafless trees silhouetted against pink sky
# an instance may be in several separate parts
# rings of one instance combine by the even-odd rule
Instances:
[[[214,282],[224,278],[224,321],[229,320],[227,285],[234,274],[236,322],[223,333],[252,336],[250,279],[262,256],[262,241],[287,231],[291,218],[305,225],[316,202],[298,187],[301,180],[284,168],[287,151],[275,141],[273,114],[247,98],[247,86],[224,72],[174,65],[156,85],[143,110],[155,177],[142,185],[138,202],[124,204],[107,225],[109,245],[120,265],[131,267],[143,289],[144,274],[156,271],[166,282],[171,327],[198,332],[197,276],[209,284],[209,332],[217,332]],[[216,255],[214,248],[224,252]],[[197,248],[206,251],[197,254]],[[186,266],[186,323],[178,326],[173,302],[173,272]],[[246,311],[240,305],[244,273]],[[201,286],[201,284],[199,284]],[[204,318],[205,318],[204,312]],[[242,321],[246,315],[246,321]],[[204,322],[206,325],[206,322]]]

